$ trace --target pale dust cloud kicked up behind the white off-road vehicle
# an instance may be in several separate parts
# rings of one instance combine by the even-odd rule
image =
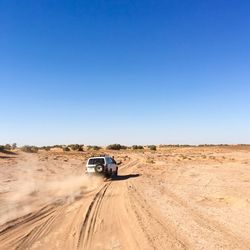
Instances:
[[[37,173],[38,168],[43,169],[41,162],[34,156],[27,157],[28,159],[20,162],[18,166],[25,171],[19,173],[12,189],[1,195],[0,225],[50,203],[72,203],[77,198],[84,198],[103,182],[101,177],[83,174],[55,174],[48,178],[43,171]]]

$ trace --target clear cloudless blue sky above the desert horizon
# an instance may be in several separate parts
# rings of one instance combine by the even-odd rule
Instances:
[[[250,143],[249,0],[0,1],[0,144]]]

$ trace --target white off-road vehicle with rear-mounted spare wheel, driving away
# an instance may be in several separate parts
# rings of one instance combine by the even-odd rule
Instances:
[[[91,157],[87,160],[86,173],[103,174],[106,176],[117,176],[118,166],[111,156]]]

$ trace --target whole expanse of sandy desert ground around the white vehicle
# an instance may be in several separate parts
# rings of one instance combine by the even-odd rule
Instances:
[[[250,249],[250,148],[0,153],[0,249]]]

